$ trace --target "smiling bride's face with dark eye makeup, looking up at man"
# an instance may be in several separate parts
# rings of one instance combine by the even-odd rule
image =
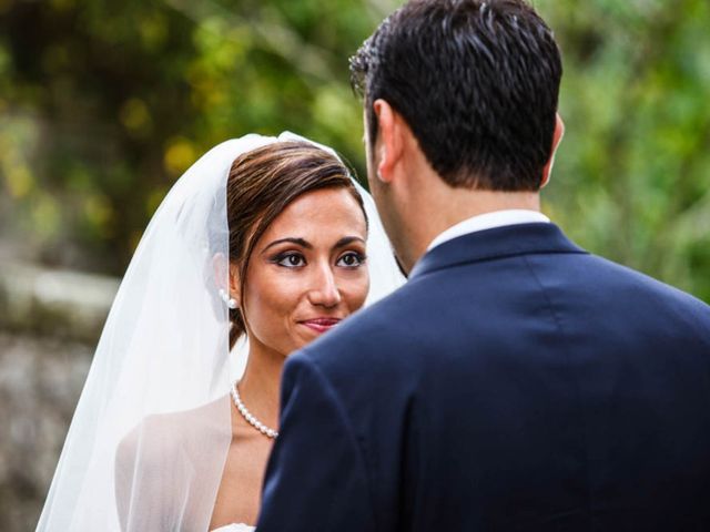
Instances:
[[[250,341],[287,356],[365,303],[367,227],[346,188],[296,198],[250,259],[244,309]]]

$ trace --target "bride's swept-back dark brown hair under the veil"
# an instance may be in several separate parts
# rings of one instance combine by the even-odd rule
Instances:
[[[288,204],[323,188],[347,188],[367,221],[363,198],[347,167],[317,146],[278,142],[247,152],[232,164],[226,185],[230,263],[239,266],[242,301],[240,308],[230,310],[230,348],[246,331],[241,308],[246,269],[256,243]]]

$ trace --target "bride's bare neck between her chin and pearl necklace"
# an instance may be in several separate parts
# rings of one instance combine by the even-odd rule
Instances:
[[[250,339],[250,354],[239,389],[246,409],[266,427],[278,429],[278,397],[284,355]]]

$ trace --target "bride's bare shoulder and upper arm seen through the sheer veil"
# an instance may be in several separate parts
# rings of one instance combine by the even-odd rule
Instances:
[[[230,419],[225,395],[194,409],[146,416],[121,439],[114,481],[124,529],[128,520],[140,524],[135,530],[206,529],[210,493],[232,437]]]

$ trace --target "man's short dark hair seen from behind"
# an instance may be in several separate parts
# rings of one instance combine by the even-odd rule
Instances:
[[[562,65],[524,0],[410,0],[351,59],[369,139],[383,99],[452,186],[537,191],[550,157]]]

